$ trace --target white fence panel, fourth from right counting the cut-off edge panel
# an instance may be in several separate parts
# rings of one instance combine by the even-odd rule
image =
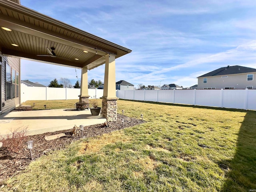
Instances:
[[[175,103],[194,104],[194,90],[175,90]]]

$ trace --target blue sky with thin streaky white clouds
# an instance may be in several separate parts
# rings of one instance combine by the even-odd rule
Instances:
[[[127,47],[116,81],[190,87],[224,66],[256,68],[256,0],[20,0],[23,6]],[[75,84],[74,68],[22,60],[21,79]],[[33,72],[31,74],[31,71]],[[81,70],[77,69],[80,79]],[[104,65],[88,80],[104,82]]]

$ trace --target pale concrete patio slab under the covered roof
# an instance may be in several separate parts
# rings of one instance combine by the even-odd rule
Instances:
[[[102,116],[92,116],[90,110],[51,109],[13,111],[0,115],[0,135],[17,128],[27,128],[28,135],[72,129],[74,125],[88,126],[106,121]]]

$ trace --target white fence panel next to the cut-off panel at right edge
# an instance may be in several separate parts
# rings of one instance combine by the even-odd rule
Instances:
[[[223,107],[243,109],[246,90],[223,90]]]

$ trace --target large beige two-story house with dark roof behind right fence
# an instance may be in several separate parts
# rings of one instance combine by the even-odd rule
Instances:
[[[255,89],[256,69],[227,66],[198,77],[198,89]]]

